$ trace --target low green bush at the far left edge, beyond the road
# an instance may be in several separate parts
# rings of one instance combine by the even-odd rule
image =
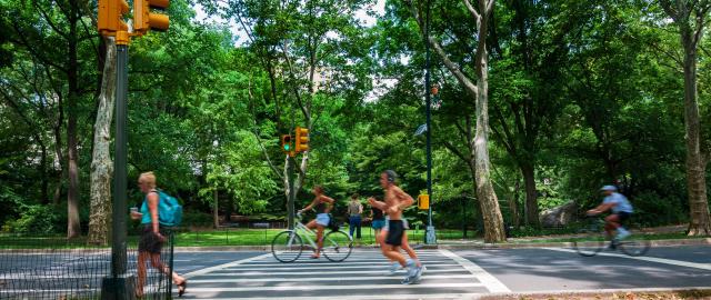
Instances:
[[[61,232],[62,216],[52,206],[23,206],[20,209],[20,218],[10,220],[3,226],[16,233],[49,234]]]

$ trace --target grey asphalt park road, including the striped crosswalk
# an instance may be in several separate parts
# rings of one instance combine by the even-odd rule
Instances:
[[[711,247],[658,247],[638,258],[614,251],[587,258],[562,248],[418,253],[428,270],[412,286],[400,283],[403,271],[390,276],[377,250],[354,250],[340,263],[311,260],[308,253],[281,263],[260,251],[177,252],[174,266],[189,278],[183,299],[475,299],[508,292],[711,289]],[[7,298],[1,290],[0,298]]]

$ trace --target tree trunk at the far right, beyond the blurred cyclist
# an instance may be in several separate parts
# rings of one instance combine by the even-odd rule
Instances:
[[[687,129],[687,190],[689,193],[689,236],[711,234],[707,200],[705,163],[701,153],[699,102],[697,91],[697,46],[692,31],[683,30],[684,47],[684,124]]]

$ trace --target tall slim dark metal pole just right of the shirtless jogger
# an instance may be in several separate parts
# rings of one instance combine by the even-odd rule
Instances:
[[[437,243],[437,234],[434,233],[434,224],[432,224],[432,202],[434,198],[432,197],[432,142],[431,142],[431,132],[432,127],[430,123],[431,117],[431,107],[432,107],[432,98],[431,98],[431,82],[430,82],[430,0],[427,1],[427,20],[424,26],[424,100],[427,102],[427,194],[430,196],[430,208],[427,211],[427,230],[425,230],[425,240],[424,243],[433,244]]]

